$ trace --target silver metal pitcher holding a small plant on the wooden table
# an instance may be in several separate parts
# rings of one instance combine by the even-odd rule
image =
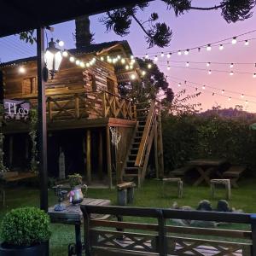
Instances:
[[[74,173],[73,175],[68,175],[69,185],[71,187],[71,191],[67,194],[69,197],[69,201],[73,203],[73,205],[79,204],[84,200],[84,195],[82,192],[82,187],[87,191],[87,186],[83,184],[83,177],[79,173]]]

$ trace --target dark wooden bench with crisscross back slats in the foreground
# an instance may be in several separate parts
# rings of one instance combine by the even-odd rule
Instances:
[[[143,207],[81,206],[81,210],[84,214],[86,256],[256,255],[255,214]],[[90,218],[95,213],[123,218],[119,218],[120,221]],[[132,217],[133,221],[125,221],[124,217]],[[143,218],[143,222],[138,218]],[[147,218],[148,221],[145,220]],[[177,218],[248,224],[249,229],[226,230],[166,224],[167,219]]]

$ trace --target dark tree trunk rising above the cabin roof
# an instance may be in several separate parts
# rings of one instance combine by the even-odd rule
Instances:
[[[90,33],[90,20],[88,15],[80,16],[75,20],[76,24],[76,47],[88,46],[92,43],[93,34]]]

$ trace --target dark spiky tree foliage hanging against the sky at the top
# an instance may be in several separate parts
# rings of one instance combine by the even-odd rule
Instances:
[[[222,17],[229,23],[252,17],[252,9],[256,4],[255,0],[222,0],[211,7],[197,7],[192,4],[193,0],[160,1],[166,3],[167,9],[173,9],[176,16],[183,15],[190,10],[209,11],[221,9]],[[147,8],[148,3],[137,3],[129,7],[114,9],[113,11],[108,11],[100,21],[106,26],[107,31],[113,31],[121,37],[130,33],[131,23],[135,21],[145,33],[149,48],[153,46],[161,48],[168,46],[172,40],[172,29],[165,22],[158,22],[159,15],[157,13],[152,13],[148,20],[139,20],[137,18],[138,13]],[[32,31],[21,33],[20,38],[30,43],[35,40]]]

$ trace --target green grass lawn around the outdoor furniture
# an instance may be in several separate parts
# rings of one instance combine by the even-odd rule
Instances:
[[[244,212],[256,212],[256,179],[243,179],[239,183],[239,189],[232,189],[232,197],[230,207],[242,209]],[[172,193],[173,191],[173,193]],[[147,180],[143,183],[143,189],[136,190],[135,203],[137,207],[172,207],[174,201],[178,205],[189,205],[196,207],[202,199],[207,199],[212,202],[212,207],[216,207],[218,198],[224,198],[224,189],[219,189],[218,198],[212,200],[210,189],[207,186],[192,187],[184,184],[183,198],[176,198],[176,190],[170,189],[166,194],[171,196],[162,197],[161,182],[157,180]],[[23,206],[38,206],[39,191],[28,187],[10,188],[6,191],[7,199],[6,206],[0,208],[0,219],[3,218],[5,212],[15,207]],[[173,195],[173,196],[172,196]],[[112,204],[116,204],[116,190],[109,189],[89,189],[87,197],[110,199]],[[49,205],[55,204],[55,195],[49,190]],[[67,245],[74,241],[74,227],[64,224],[51,224],[52,236],[50,239],[50,255],[66,256]]]

